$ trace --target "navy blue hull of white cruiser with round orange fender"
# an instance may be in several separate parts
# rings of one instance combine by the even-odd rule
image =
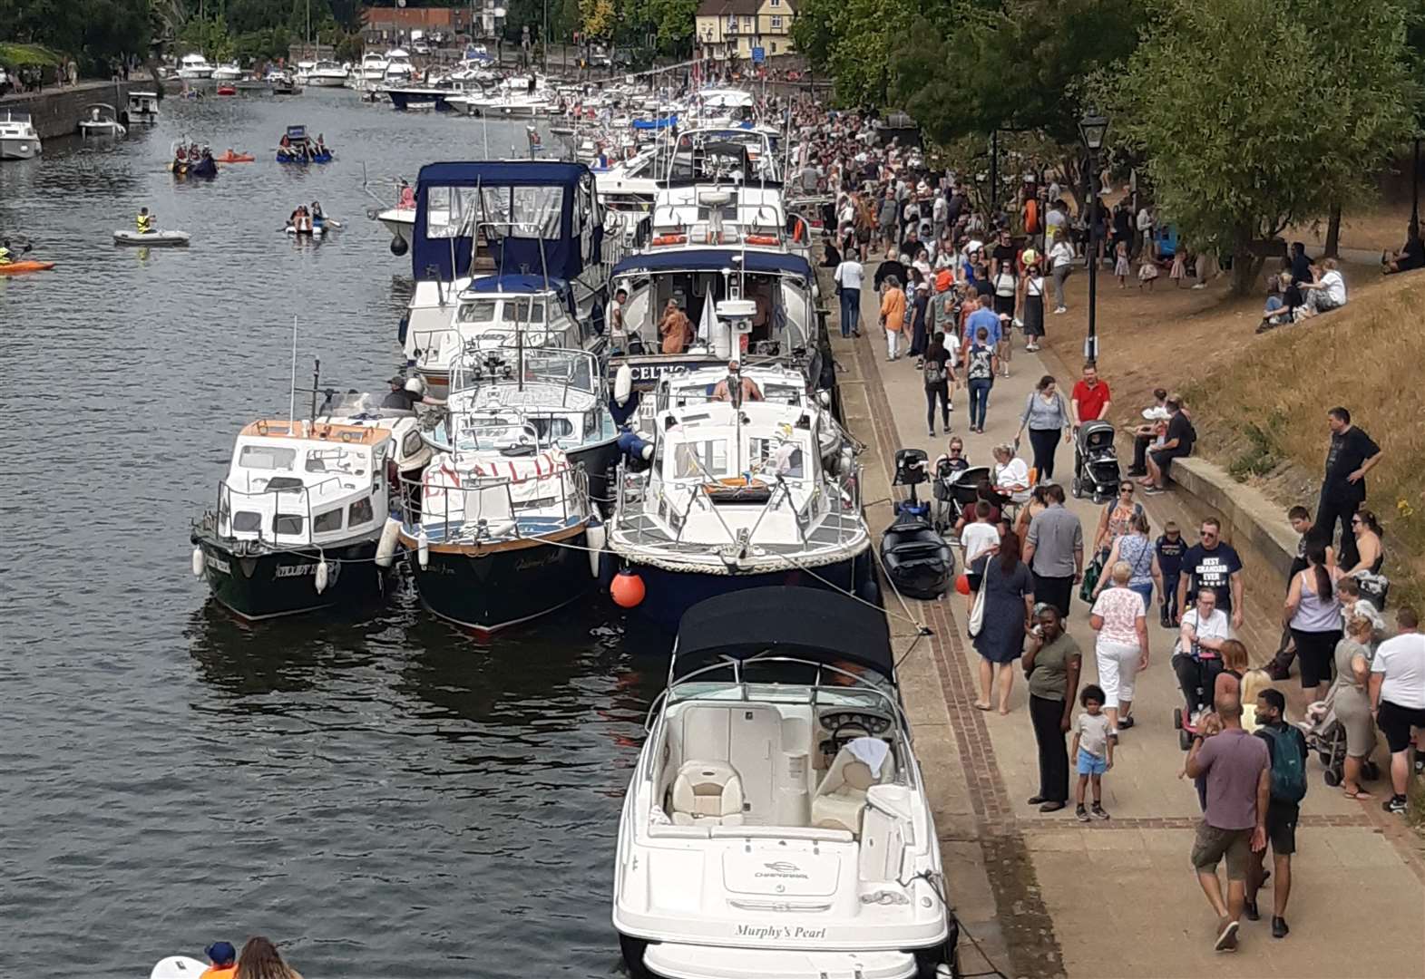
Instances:
[[[855,559],[822,564],[807,571],[792,569],[767,574],[688,574],[634,563],[628,567],[643,579],[644,587],[644,599],[633,614],[665,633],[675,633],[683,613],[704,599],[744,589],[785,584],[849,591],[876,604],[881,599],[869,550]]]

